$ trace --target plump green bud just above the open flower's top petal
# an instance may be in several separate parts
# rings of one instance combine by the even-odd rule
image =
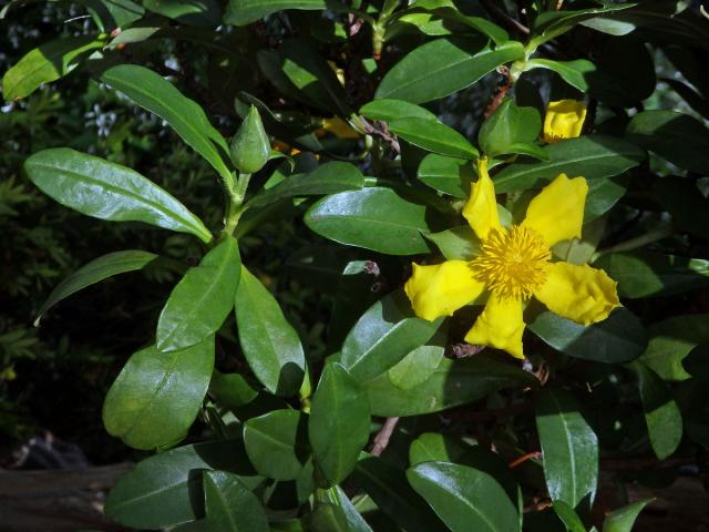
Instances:
[[[477,143],[489,157],[518,153],[517,149],[536,141],[541,131],[542,117],[536,109],[517,108],[507,99],[483,122]]]

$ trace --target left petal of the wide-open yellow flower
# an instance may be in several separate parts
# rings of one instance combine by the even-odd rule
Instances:
[[[466,260],[446,260],[435,266],[413,264],[413,275],[404,286],[417,316],[430,321],[451,316],[480,296],[483,288]]]

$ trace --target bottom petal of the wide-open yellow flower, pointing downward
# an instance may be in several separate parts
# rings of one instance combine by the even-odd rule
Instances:
[[[503,349],[516,358],[522,354],[522,301],[513,297],[490,295],[484,310],[465,335],[465,341],[479,346]]]

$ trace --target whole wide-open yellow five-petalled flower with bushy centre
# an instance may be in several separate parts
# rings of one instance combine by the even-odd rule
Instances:
[[[586,264],[552,262],[553,245],[580,237],[586,180],[559,174],[532,200],[525,219],[505,228],[485,158],[479,160],[477,173],[463,216],[481,241],[480,254],[472,260],[414,264],[405,291],[417,315],[451,316],[486,291],[487,303],[465,341],[517,358],[524,358],[522,313],[532,297],[583,325],[606,319],[619,306],[616,282]]]

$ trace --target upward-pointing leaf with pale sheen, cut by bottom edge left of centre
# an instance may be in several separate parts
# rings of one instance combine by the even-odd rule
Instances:
[[[308,530],[312,532],[372,532],[339,485],[318,490],[309,518]]]

